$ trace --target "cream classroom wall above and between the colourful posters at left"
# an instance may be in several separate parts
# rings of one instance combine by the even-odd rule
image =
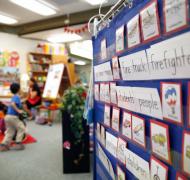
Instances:
[[[0,49],[17,51],[20,56],[20,72],[26,73],[27,53],[34,51],[38,41],[23,39],[17,35],[0,32]]]

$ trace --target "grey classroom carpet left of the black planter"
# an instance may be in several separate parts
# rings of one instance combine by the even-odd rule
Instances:
[[[0,153],[0,180],[91,180],[92,173],[63,174],[61,124],[28,122],[28,133],[37,143],[24,151]]]

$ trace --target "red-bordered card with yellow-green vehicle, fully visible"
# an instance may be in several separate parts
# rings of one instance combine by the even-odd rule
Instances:
[[[151,120],[150,134],[152,152],[160,159],[171,164],[168,125]]]

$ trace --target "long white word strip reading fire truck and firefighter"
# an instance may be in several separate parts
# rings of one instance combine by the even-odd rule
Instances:
[[[190,78],[190,33],[119,59],[123,80]],[[162,47],[162,48],[160,48]]]

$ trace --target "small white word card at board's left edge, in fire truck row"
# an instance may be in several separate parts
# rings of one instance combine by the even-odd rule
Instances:
[[[94,67],[95,81],[113,81],[110,62],[106,62]]]

